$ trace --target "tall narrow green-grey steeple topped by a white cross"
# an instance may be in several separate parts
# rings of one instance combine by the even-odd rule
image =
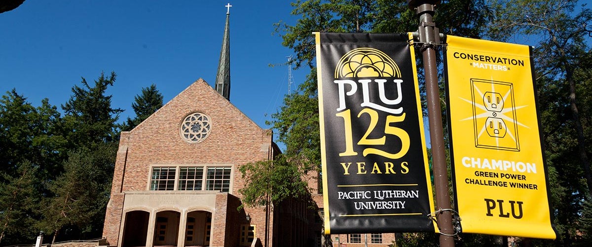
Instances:
[[[218,62],[218,73],[216,73],[216,91],[226,100],[230,101],[230,7],[227,4],[226,26],[224,27],[224,37],[222,39],[222,49],[220,50],[220,61]]]

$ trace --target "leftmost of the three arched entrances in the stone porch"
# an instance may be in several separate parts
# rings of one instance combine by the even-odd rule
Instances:
[[[126,213],[126,225],[123,227],[123,246],[146,246],[150,213],[135,210]]]

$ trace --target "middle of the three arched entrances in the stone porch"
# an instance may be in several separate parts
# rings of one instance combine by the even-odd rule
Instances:
[[[156,213],[154,227],[154,246],[177,246],[179,234],[179,218],[177,211],[160,211]]]

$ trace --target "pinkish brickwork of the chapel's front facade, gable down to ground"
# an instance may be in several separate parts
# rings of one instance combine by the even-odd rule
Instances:
[[[211,132],[201,143],[192,144],[181,138],[181,121],[191,113],[200,112],[210,116]],[[118,244],[126,191],[149,190],[150,167],[167,165],[233,165],[233,182],[230,194],[240,198],[244,181],[239,166],[261,161],[270,157],[272,149],[271,130],[263,130],[224,97],[214,91],[207,82],[199,79],[170,100],[156,113],[131,131],[121,133],[120,149],[115,161],[111,201],[105,216],[103,236],[110,245]],[[220,194],[220,200],[227,200],[228,194]],[[218,200],[218,196],[216,200]],[[232,200],[231,200],[232,201]],[[237,204],[236,202],[234,204]],[[225,243],[222,238],[238,241],[239,231],[230,230],[239,220],[237,205],[216,204],[211,240],[213,246],[236,246],[235,240]],[[236,206],[236,207],[235,207]],[[219,208],[218,208],[219,207]],[[265,211],[250,210],[252,223],[263,228]],[[226,219],[226,215],[232,219]],[[224,215],[224,216],[221,216]],[[220,219],[224,217],[224,219]],[[240,225],[240,224],[239,224]],[[224,227],[226,226],[226,227]],[[218,232],[218,230],[222,230]],[[258,230],[257,236],[260,235]],[[218,235],[220,234],[220,235]],[[221,239],[221,240],[220,240]],[[263,238],[262,238],[263,239]],[[265,243],[264,243],[265,244]]]

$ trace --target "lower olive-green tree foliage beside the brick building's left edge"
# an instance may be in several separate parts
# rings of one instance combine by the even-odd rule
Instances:
[[[54,196],[43,202],[41,227],[46,233],[57,235],[69,227],[94,235],[102,232],[116,153],[116,143],[101,143],[69,154],[65,171],[50,184]]]

